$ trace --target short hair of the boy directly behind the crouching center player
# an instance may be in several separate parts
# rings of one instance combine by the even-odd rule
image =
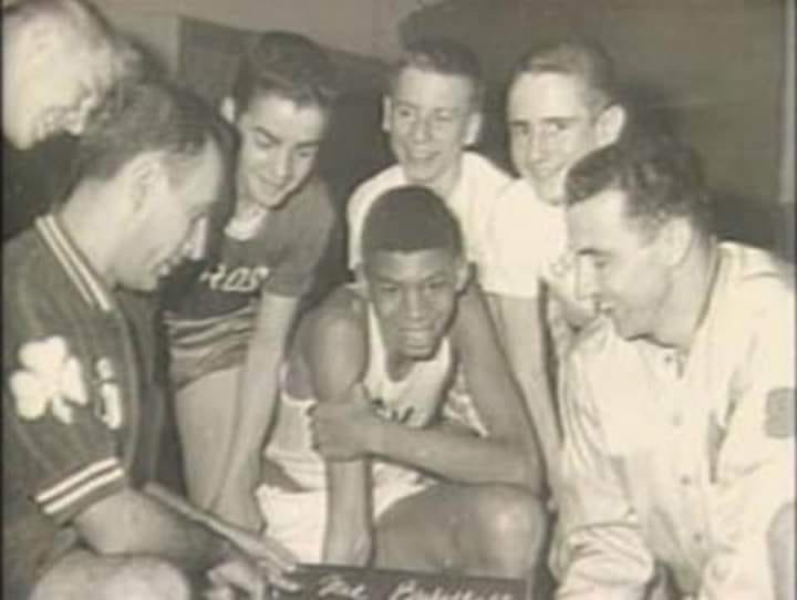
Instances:
[[[467,45],[447,38],[421,38],[406,45],[402,58],[390,71],[389,90],[392,93],[398,75],[410,66],[441,75],[456,75],[470,82],[474,89],[473,106],[484,100],[484,79],[478,56]]]

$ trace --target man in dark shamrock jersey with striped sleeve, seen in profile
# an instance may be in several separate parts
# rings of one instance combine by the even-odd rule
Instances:
[[[195,598],[290,588],[290,552],[153,484],[141,360],[120,302],[204,250],[221,125],[125,85],[83,132],[62,206],[3,247],[3,596]],[[205,579],[205,578],[208,579]]]

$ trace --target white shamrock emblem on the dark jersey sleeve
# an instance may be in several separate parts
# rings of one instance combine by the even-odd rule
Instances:
[[[48,411],[63,423],[72,423],[73,405],[89,402],[81,363],[69,353],[60,337],[28,342],[19,351],[23,369],[13,373],[9,385],[17,400],[17,413],[28,421]]]

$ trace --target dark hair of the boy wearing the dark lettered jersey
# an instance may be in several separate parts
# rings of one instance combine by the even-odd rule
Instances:
[[[238,110],[245,111],[266,94],[329,111],[339,94],[335,66],[327,52],[304,35],[263,33],[241,56],[231,95]]]

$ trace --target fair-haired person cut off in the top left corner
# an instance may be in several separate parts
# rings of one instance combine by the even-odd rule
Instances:
[[[138,52],[82,0],[4,3],[2,65],[8,239],[62,199],[56,196],[69,185],[73,136],[95,116],[108,91],[121,80],[138,77],[143,66]],[[53,157],[59,158],[55,166]]]

